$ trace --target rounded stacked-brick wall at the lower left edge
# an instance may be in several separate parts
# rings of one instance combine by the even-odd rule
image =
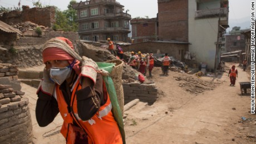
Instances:
[[[33,138],[28,98],[20,91],[17,74],[17,66],[0,63],[0,143],[27,144]]]

